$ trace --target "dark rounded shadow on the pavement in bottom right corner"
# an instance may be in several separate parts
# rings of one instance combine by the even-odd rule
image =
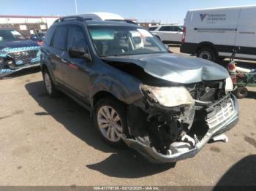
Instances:
[[[214,190],[219,190],[221,186],[247,186],[244,190],[249,190],[248,186],[256,186],[256,155],[249,155],[244,157],[233,165],[223,176],[219,179]],[[254,187],[255,189],[255,187]],[[230,189],[232,190],[232,189]],[[236,190],[236,189],[235,189]],[[243,189],[241,189],[243,190]]]

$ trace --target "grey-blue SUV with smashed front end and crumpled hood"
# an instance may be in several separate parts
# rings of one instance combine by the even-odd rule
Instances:
[[[238,122],[233,83],[222,66],[176,55],[144,28],[62,17],[42,46],[52,97],[89,109],[108,144],[127,144],[152,163],[194,157]]]

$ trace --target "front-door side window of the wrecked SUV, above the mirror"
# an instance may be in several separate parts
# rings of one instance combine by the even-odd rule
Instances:
[[[86,37],[79,26],[69,28],[69,47],[86,47]]]

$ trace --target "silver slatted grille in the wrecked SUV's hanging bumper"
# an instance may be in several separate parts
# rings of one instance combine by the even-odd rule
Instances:
[[[225,122],[225,120],[231,117],[235,112],[234,104],[231,98],[230,101],[227,102],[227,104],[225,104],[224,106],[220,105],[219,107],[220,108],[217,114],[215,114],[214,117],[206,120],[210,129],[217,127],[218,125],[222,124],[222,122]]]

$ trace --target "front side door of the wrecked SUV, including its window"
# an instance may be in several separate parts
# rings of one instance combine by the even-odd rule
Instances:
[[[84,47],[87,48],[85,31],[81,26],[69,26],[69,47]],[[91,63],[85,58],[70,58],[69,53],[63,55],[63,75],[64,82],[69,87],[72,93],[75,93],[78,98],[83,101],[89,101],[89,71]]]

